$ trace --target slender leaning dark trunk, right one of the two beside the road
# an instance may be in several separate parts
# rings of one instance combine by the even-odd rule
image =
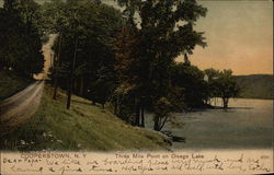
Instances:
[[[68,92],[67,109],[70,108],[71,92],[72,92],[72,84],[73,84],[73,70],[75,70],[76,57],[77,57],[77,45],[78,45],[78,39],[76,39],[75,56],[70,62],[69,84],[68,84],[68,91],[67,91]]]

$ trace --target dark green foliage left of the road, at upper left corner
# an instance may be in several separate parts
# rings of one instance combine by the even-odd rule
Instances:
[[[33,0],[5,0],[0,11],[0,69],[13,69],[32,78],[44,67],[41,35]]]

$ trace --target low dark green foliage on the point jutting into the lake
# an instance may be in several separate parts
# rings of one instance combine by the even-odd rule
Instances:
[[[224,107],[227,107],[229,98],[239,95],[240,88],[231,70],[210,68],[202,71],[184,63],[175,63],[171,70],[173,89],[170,91],[170,101],[175,106],[174,110],[207,107],[213,97],[221,97]]]

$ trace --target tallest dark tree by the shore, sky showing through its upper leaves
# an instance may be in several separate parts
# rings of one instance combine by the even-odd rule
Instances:
[[[180,54],[192,54],[196,45],[205,46],[203,33],[193,30],[206,9],[195,0],[117,0],[125,7],[128,24],[139,33],[139,57],[142,59],[141,90],[138,100],[151,105],[168,96],[170,68]],[[135,14],[140,20],[135,20]],[[139,24],[138,24],[139,23]],[[138,112],[138,110],[136,110]]]

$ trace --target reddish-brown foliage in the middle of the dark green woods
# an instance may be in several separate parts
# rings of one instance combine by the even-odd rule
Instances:
[[[144,72],[146,62],[139,59],[138,46],[137,31],[130,26],[124,26],[115,39],[115,70],[119,85],[116,90],[117,96],[114,105],[119,105],[117,108],[124,108],[118,110],[117,115],[127,118],[129,122],[133,122],[130,116],[135,113],[138,120],[138,108],[141,107],[140,104],[145,103],[144,100],[140,101],[140,96],[144,94],[144,81],[141,80],[146,75],[146,72]],[[122,101],[125,98],[127,98],[127,102]],[[116,103],[117,101],[119,101],[118,104]]]

